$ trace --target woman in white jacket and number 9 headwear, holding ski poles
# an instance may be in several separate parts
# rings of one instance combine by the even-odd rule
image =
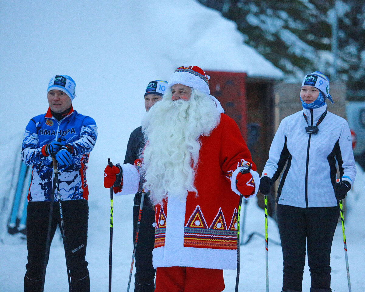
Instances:
[[[351,134],[345,119],[327,111],[329,80],[307,74],[300,89],[303,111],[284,118],[272,141],[260,191],[277,190],[277,223],[283,250],[283,291],[302,291],[306,260],[311,292],[331,292],[330,254],[339,218],[338,200],[356,176]],[[337,167],[341,181],[336,183]]]

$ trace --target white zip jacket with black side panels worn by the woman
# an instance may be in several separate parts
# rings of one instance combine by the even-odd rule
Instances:
[[[337,206],[333,189],[337,166],[340,178],[353,185],[356,167],[347,121],[327,112],[318,133],[306,133],[306,127],[315,126],[326,109],[327,104],[313,110],[303,108],[281,121],[262,172],[271,178],[272,185],[287,163],[277,191],[278,204],[301,208]]]

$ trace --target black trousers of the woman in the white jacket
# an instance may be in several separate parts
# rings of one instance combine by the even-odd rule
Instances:
[[[306,241],[311,288],[331,289],[331,246],[339,207],[298,208],[277,204],[283,250],[283,291],[302,291]]]

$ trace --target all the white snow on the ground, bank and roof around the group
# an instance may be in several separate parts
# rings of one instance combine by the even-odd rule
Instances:
[[[61,4],[62,3],[62,4]],[[178,4],[163,0],[3,1],[0,9],[0,290],[22,291],[27,257],[19,236],[6,233],[9,182],[19,158],[29,119],[46,112],[46,88],[54,74],[76,81],[74,108],[92,116],[99,136],[90,155],[89,262],[91,291],[108,289],[109,191],[103,187],[108,158],[122,162],[130,132],[145,112],[143,92],[149,81],[168,79],[178,66],[247,72],[249,76],[280,78],[282,73],[250,47],[233,22],[193,0]],[[364,242],[364,178],[346,198],[346,235],[353,291],[365,291],[362,271]],[[113,291],[127,287],[132,256],[132,196],[115,197]],[[264,212],[255,199],[247,205],[244,237],[264,234]],[[278,241],[269,221],[269,238]],[[347,291],[341,225],[332,251],[332,287]],[[281,248],[269,242],[269,285],[281,291]],[[234,291],[235,270],[224,271],[226,289]],[[67,291],[62,241],[54,238],[45,291]],[[303,291],[309,291],[306,268]],[[265,241],[254,235],[241,247],[240,291],[265,291]]]

